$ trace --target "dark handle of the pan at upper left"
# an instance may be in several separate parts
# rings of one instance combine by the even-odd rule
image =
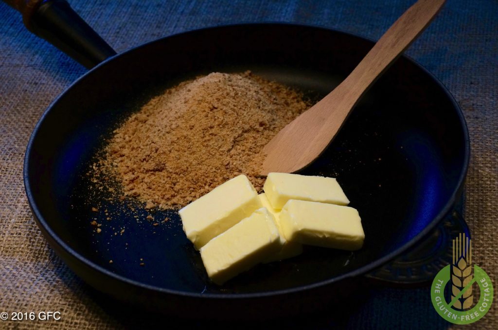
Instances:
[[[59,48],[87,69],[95,67],[114,49],[102,39],[66,0],[2,0],[22,14],[26,28]]]

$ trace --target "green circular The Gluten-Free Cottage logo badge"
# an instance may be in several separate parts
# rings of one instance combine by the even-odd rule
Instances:
[[[446,321],[454,324],[471,324],[488,313],[493,303],[493,283],[486,272],[479,266],[474,266],[474,276],[471,276],[472,266],[467,268],[451,268],[447,265],[437,273],[431,286],[431,301],[436,312]],[[452,282],[451,296],[448,303],[444,290],[448,282]],[[473,304],[472,286],[477,283],[480,290],[479,301]]]

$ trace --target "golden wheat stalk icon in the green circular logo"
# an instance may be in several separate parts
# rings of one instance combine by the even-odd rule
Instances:
[[[460,292],[472,281],[472,242],[465,233],[453,240],[453,264],[451,265],[451,299],[459,295]],[[470,285],[462,296],[455,301],[453,308],[456,310],[466,310],[472,306],[474,295],[472,285]]]

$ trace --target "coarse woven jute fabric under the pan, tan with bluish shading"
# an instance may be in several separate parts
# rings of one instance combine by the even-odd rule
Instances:
[[[70,0],[118,52],[206,26],[283,21],[322,25],[378,39],[414,1]],[[473,259],[497,284],[498,2],[448,1],[407,54],[440,79],[463,108],[472,146],[465,219]],[[59,311],[60,321],[0,321],[0,329],[117,329],[144,315],[108,313],[54,254],[29,211],[22,163],[30,133],[48,104],[85,69],[27,32],[0,3],[0,312]],[[444,329],[429,288],[378,289],[341,318],[308,328]],[[162,327],[172,326],[164,319]],[[201,326],[199,323],[198,326]],[[475,329],[498,329],[495,300]]]

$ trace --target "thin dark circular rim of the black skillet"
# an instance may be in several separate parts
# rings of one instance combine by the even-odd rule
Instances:
[[[29,206],[31,208],[31,211],[34,214],[34,220],[37,223],[38,227],[40,230],[46,235],[49,235],[50,238],[54,241],[55,244],[59,246],[59,248],[63,249],[66,253],[68,253],[71,257],[76,258],[79,262],[83,263],[87,267],[90,267],[91,269],[94,269],[95,271],[100,272],[104,276],[109,276],[113,278],[114,280],[124,282],[125,284],[135,286],[140,289],[146,289],[146,290],[152,290],[159,292],[161,294],[171,294],[171,295],[179,295],[179,296],[186,296],[186,297],[192,297],[192,298],[198,298],[198,299],[247,299],[247,298],[259,298],[259,297],[267,297],[267,296],[277,296],[277,295],[286,295],[286,294],[292,294],[292,293],[298,293],[304,290],[310,290],[310,289],[316,289],[320,287],[324,287],[327,285],[330,285],[332,283],[347,279],[347,278],[352,278],[352,277],[357,277],[364,275],[368,273],[369,271],[372,271],[373,269],[376,269],[385,263],[389,262],[396,256],[400,255],[402,252],[406,251],[407,249],[413,247],[416,243],[420,242],[421,239],[423,239],[426,235],[428,235],[434,228],[435,226],[446,216],[453,205],[456,202],[456,197],[460,191],[460,189],[463,187],[467,172],[468,172],[468,167],[469,167],[469,161],[470,161],[470,137],[469,137],[469,130],[467,127],[467,122],[465,120],[463,111],[458,104],[458,102],[455,100],[454,96],[450,93],[448,88],[437,78],[435,77],[431,72],[429,72],[425,67],[423,67],[421,64],[419,64],[417,61],[414,59],[410,58],[407,55],[401,55],[405,60],[411,62],[414,64],[416,67],[418,67],[424,74],[428,75],[439,87],[444,91],[446,96],[449,98],[451,101],[453,107],[455,108],[457,112],[457,116],[460,120],[460,125],[462,129],[462,133],[464,134],[464,159],[463,159],[463,168],[462,171],[460,172],[460,175],[458,177],[458,183],[455,187],[455,189],[452,191],[451,196],[449,200],[446,202],[444,207],[441,209],[441,211],[433,218],[433,220],[415,237],[413,237],[409,242],[405,243],[403,246],[391,251],[390,253],[384,255],[383,257],[376,259],[372,261],[371,263],[364,265],[358,269],[355,269],[353,271],[347,272],[345,274],[336,276],[331,279],[327,279],[324,281],[312,283],[312,284],[306,284],[302,286],[297,286],[293,288],[287,288],[287,289],[281,289],[281,290],[274,290],[274,291],[267,291],[267,292],[255,292],[255,293],[227,293],[227,294],[219,294],[219,293],[196,293],[196,292],[187,292],[187,291],[178,291],[174,289],[168,289],[168,288],[163,288],[163,287],[158,287],[150,284],[145,284],[136,280],[132,280],[130,278],[127,278],[123,275],[113,273],[104,267],[96,264],[92,260],[84,257],[80,253],[78,253],[75,249],[71,248],[68,244],[66,244],[56,233],[52,228],[49,226],[47,223],[46,219],[43,217],[43,215],[40,212],[40,209],[38,208],[35,199],[33,197],[33,194],[31,193],[31,183],[29,179],[29,158],[32,152],[32,145],[33,141],[36,139],[37,132],[42,125],[44,119],[46,118],[47,114],[50,112],[50,110],[53,108],[53,106],[59,101],[59,99],[65,95],[70,89],[75,88],[75,86],[83,79],[86,78],[87,75],[92,74],[94,71],[98,70],[101,66],[106,65],[108,62],[113,61],[121,56],[124,56],[128,54],[129,52],[133,52],[137,49],[141,49],[143,47],[147,47],[150,44],[156,43],[156,42],[162,42],[163,40],[171,37],[177,37],[181,36],[183,34],[190,34],[190,33],[196,33],[199,31],[204,31],[204,30],[216,30],[216,29],[225,29],[225,28],[233,28],[233,27],[250,27],[250,26],[289,26],[289,27],[301,27],[301,28],[311,28],[311,29],[322,29],[322,30],[327,30],[329,32],[336,32],[340,33],[343,35],[347,35],[348,37],[353,37],[357,39],[362,39],[364,41],[368,42],[373,42],[375,43],[374,40],[370,38],[366,38],[351,32],[347,31],[342,31],[340,29],[332,29],[329,27],[325,26],[320,26],[320,25],[312,25],[312,24],[296,24],[296,23],[288,23],[288,22],[256,22],[256,23],[236,23],[236,24],[225,24],[225,25],[216,25],[216,26],[210,26],[210,27],[204,27],[204,28],[198,28],[198,29],[193,29],[193,30],[188,30],[184,31],[181,33],[176,33],[172,34],[166,37],[162,37],[156,40],[152,40],[149,42],[146,42],[144,44],[140,44],[139,46],[133,47],[131,49],[128,49],[122,53],[119,53],[115,56],[112,56],[103,62],[99,63],[97,66],[83,74],[81,77],[76,79],[74,82],[72,82],[69,86],[67,86],[49,105],[48,107],[43,111],[41,117],[39,118],[38,122],[36,123],[33,132],[31,133],[31,136],[29,138],[29,142],[26,147],[26,151],[24,154],[24,162],[23,162],[23,180],[24,180],[24,188],[26,191],[26,196],[27,200],[29,203]],[[55,251],[57,249],[54,248]],[[61,257],[61,259],[63,259]],[[64,263],[71,269],[71,267],[68,265],[68,263],[63,259]],[[77,274],[78,275],[78,274]],[[79,275],[78,275],[79,276]]]

